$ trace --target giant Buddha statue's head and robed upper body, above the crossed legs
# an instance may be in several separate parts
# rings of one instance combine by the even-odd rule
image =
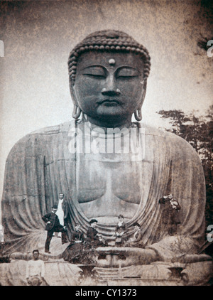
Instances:
[[[5,252],[40,245],[42,216],[63,191],[68,223],[80,223],[84,234],[95,218],[110,240],[117,212],[129,228],[141,225],[140,257],[136,249],[124,265],[197,253],[204,240],[204,173],[187,141],[141,122],[148,50],[121,31],[97,31],[71,51],[68,68],[75,121],[28,134],[6,161]],[[181,207],[172,235],[158,202],[169,193]]]

